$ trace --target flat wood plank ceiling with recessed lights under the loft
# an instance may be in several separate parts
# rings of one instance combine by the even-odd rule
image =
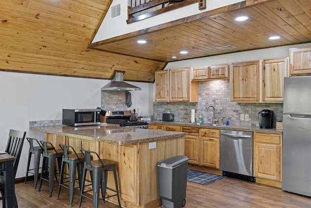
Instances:
[[[170,62],[311,42],[311,0],[266,0],[257,4],[253,2],[257,1],[241,1],[153,28],[96,42],[89,47]],[[248,16],[249,19],[244,22],[234,20],[241,15]],[[281,38],[268,39],[276,35]],[[146,47],[138,45],[138,39],[146,40]],[[234,48],[217,49],[228,45]],[[189,53],[180,55],[181,50]],[[172,56],[177,59],[173,59]]]

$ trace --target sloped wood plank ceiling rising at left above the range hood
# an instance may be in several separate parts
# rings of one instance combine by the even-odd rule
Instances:
[[[165,62],[87,49],[111,0],[0,0],[0,70],[153,82]]]

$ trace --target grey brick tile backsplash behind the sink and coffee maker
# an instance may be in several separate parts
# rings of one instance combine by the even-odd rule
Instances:
[[[259,126],[258,113],[263,109],[274,111],[276,121],[283,119],[283,103],[237,103],[229,101],[229,80],[213,80],[199,82],[198,103],[166,103],[154,102],[153,119],[162,119],[162,113],[173,113],[175,121],[190,122],[190,109],[203,114],[204,122],[211,123],[213,111],[206,112],[206,107],[215,107],[215,118],[221,121],[229,120],[230,124]],[[240,115],[248,114],[249,121],[241,121]]]

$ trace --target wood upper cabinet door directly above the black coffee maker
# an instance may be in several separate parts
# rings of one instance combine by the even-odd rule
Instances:
[[[287,59],[264,60],[262,67],[262,101],[283,101]]]

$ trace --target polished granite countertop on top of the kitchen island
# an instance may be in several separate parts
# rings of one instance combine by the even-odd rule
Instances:
[[[109,144],[138,144],[185,136],[183,132],[167,132],[148,129],[119,127],[118,125],[70,127],[65,125],[30,127],[32,131],[54,133],[75,138],[100,141]]]

